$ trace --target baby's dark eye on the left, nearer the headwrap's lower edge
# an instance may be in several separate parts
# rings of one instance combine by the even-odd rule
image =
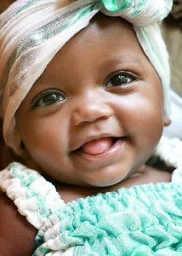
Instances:
[[[65,96],[59,90],[46,90],[33,100],[33,108],[45,108],[63,101],[65,101]]]

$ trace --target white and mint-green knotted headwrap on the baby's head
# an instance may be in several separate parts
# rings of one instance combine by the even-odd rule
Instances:
[[[101,11],[121,16],[134,27],[139,44],[162,81],[164,113],[169,113],[168,53],[160,22],[172,0],[18,0],[0,15],[0,93],[3,135],[20,154],[14,114],[48,62]]]

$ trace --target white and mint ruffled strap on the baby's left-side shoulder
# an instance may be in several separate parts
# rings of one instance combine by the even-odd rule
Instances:
[[[34,177],[33,181],[25,186],[20,177],[14,177],[12,174],[13,168],[19,176],[26,177],[31,174],[31,177]],[[0,172],[0,187],[14,201],[20,214],[26,216],[28,222],[37,230],[47,221],[46,214],[50,215],[65,206],[65,202],[60,199],[52,183],[20,163],[14,162]]]

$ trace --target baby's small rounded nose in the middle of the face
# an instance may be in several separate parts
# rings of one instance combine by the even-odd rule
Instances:
[[[85,99],[77,99],[77,106],[72,112],[73,125],[82,125],[83,123],[93,123],[100,119],[108,119],[113,111],[108,102],[101,98],[88,96]]]

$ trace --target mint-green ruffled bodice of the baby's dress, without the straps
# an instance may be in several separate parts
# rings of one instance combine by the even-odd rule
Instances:
[[[79,256],[182,255],[182,186],[150,183],[71,201],[37,237],[44,243],[34,255],[70,247]]]

